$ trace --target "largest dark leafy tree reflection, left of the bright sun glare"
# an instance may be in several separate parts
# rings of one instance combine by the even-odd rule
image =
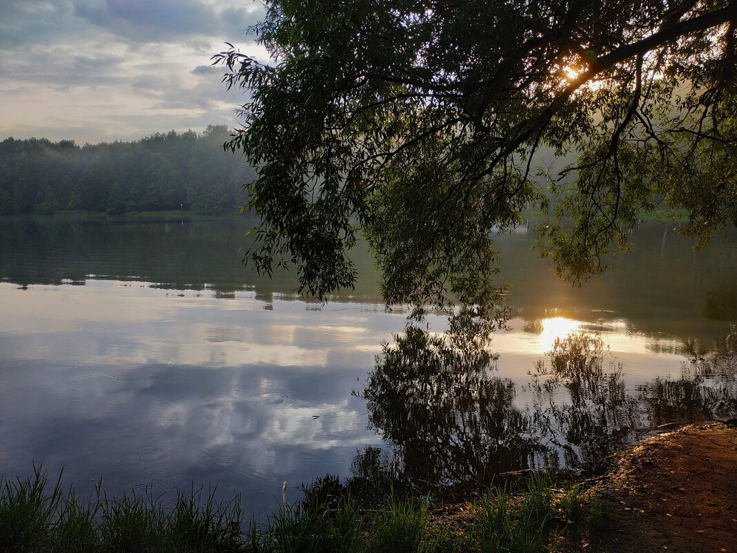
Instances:
[[[489,325],[468,311],[451,317],[446,334],[409,325],[377,357],[361,395],[371,426],[391,442],[400,479],[486,481],[545,457],[514,406],[514,382],[494,375]]]

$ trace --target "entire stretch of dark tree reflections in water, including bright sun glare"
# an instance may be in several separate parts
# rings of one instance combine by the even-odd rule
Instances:
[[[737,413],[734,356],[694,358],[678,378],[633,389],[602,335],[548,319],[525,328],[567,334],[520,386],[497,375],[505,354],[493,353],[486,335],[468,341],[473,326],[455,319],[444,335],[408,326],[384,347],[360,396],[391,453],[358,453],[355,478],[431,490],[543,465],[595,473],[658,425]]]

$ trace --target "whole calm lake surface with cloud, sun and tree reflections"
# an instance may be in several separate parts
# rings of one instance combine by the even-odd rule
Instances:
[[[324,304],[245,270],[245,218],[0,218],[0,475],[35,462],[79,493],[102,476],[165,502],[217,483],[259,515],[282,481],[296,499],[326,474],[420,490],[595,473],[659,425],[737,414],[719,357],[737,236],[693,251],[673,226],[643,226],[581,288],[526,227],[500,236],[511,319],[479,344],[441,316],[405,334],[365,251],[356,288]]]

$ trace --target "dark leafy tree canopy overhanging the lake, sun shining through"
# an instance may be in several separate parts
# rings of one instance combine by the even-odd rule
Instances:
[[[262,220],[247,260],[352,285],[364,237],[389,303],[488,306],[495,234],[534,205],[542,253],[584,279],[644,212],[704,243],[737,224],[736,0],[268,0],[271,61],[242,87]]]

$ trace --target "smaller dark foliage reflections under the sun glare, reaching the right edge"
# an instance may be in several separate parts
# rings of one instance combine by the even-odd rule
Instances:
[[[539,431],[562,451],[567,467],[596,472],[609,455],[657,426],[737,414],[734,355],[695,355],[678,378],[659,376],[635,389],[626,386],[621,365],[613,358],[607,363],[599,335],[556,339],[548,357],[532,373],[537,400],[531,417],[545,425]]]

